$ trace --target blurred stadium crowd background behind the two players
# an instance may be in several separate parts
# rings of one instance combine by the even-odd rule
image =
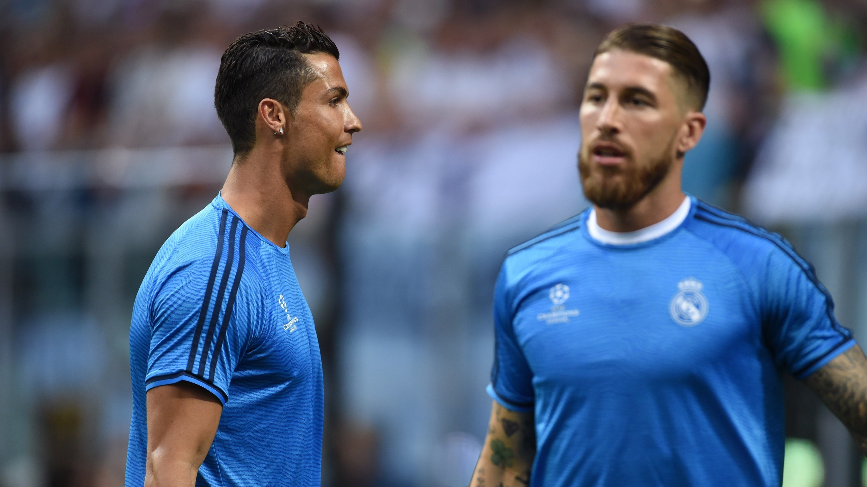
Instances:
[[[0,486],[123,482],[135,293],[231,163],[238,35],[321,25],[364,130],[290,234],[326,380],[326,486],[466,485],[505,251],[577,214],[577,109],[610,29],[682,29],[711,69],[686,189],[786,235],[867,337],[863,0],[0,0]],[[864,340],[864,338],[862,338]],[[796,381],[787,487],[862,485]]]

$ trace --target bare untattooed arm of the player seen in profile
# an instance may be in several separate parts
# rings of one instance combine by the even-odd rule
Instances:
[[[217,434],[223,406],[199,386],[178,382],[147,391],[145,487],[192,487]]]

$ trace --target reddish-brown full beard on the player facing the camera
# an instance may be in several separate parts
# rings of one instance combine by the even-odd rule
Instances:
[[[589,147],[587,151],[582,147],[578,152],[578,173],[584,196],[599,208],[626,210],[634,207],[668,175],[675,162],[674,157],[668,156],[674,142],[672,140],[661,156],[648,163],[630,162],[627,155],[625,167],[594,167],[590,163]]]

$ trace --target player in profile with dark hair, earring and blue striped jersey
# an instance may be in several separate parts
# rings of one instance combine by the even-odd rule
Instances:
[[[286,239],[362,129],[340,57],[303,22],[238,37],[214,101],[222,191],[166,240],[135,299],[127,487],[319,485],[323,370]]]

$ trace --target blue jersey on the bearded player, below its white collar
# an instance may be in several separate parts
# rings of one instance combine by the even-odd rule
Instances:
[[[489,394],[535,414],[531,485],[779,486],[783,372],[854,345],[778,234],[692,199],[635,245],[587,214],[512,249],[496,286]]]

